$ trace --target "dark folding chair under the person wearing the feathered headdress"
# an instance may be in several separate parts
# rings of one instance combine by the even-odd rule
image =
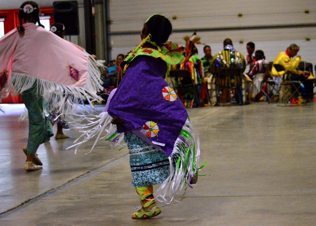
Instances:
[[[186,92],[190,92],[193,95],[191,104],[190,104],[190,108],[193,107],[193,103],[195,100],[195,97],[197,95],[197,90],[196,87],[194,85],[194,83],[192,82],[192,78],[191,78],[191,73],[188,70],[173,70],[169,72],[170,77],[174,78],[172,79],[172,86],[173,88],[176,90],[177,94],[179,92],[185,94]],[[178,81],[178,84],[174,84],[174,80]],[[185,86],[183,83],[186,84],[192,84],[191,86]]]

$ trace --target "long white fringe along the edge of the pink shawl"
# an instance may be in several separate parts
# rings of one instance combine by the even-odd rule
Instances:
[[[82,104],[84,100],[89,100],[90,103],[99,101],[100,98],[96,92],[103,90],[101,86],[103,82],[101,81],[101,73],[98,67],[103,67],[102,61],[96,61],[89,56],[88,77],[84,87],[66,86],[25,74],[12,73],[9,84],[0,92],[0,102],[2,98],[8,97],[10,92],[15,96],[35,87],[36,95],[43,96],[49,101],[50,110],[60,113],[74,112],[74,109],[78,108],[79,104]],[[75,121],[71,114],[66,115],[68,116],[67,120]]]

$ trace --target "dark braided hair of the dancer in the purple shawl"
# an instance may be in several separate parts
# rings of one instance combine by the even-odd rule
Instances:
[[[166,42],[172,31],[171,22],[160,14],[149,17],[144,26],[147,26],[148,33],[151,34],[151,41],[155,42],[156,45]]]

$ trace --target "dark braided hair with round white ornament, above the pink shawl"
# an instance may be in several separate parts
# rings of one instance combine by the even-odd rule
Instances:
[[[17,27],[16,29],[19,31],[21,35],[24,34],[24,31],[25,31],[24,27],[22,26],[22,19],[25,22],[29,18],[35,18],[39,26],[44,27],[40,23],[40,7],[36,2],[32,2],[32,1],[24,2],[20,6],[18,15],[19,15],[20,26]]]

